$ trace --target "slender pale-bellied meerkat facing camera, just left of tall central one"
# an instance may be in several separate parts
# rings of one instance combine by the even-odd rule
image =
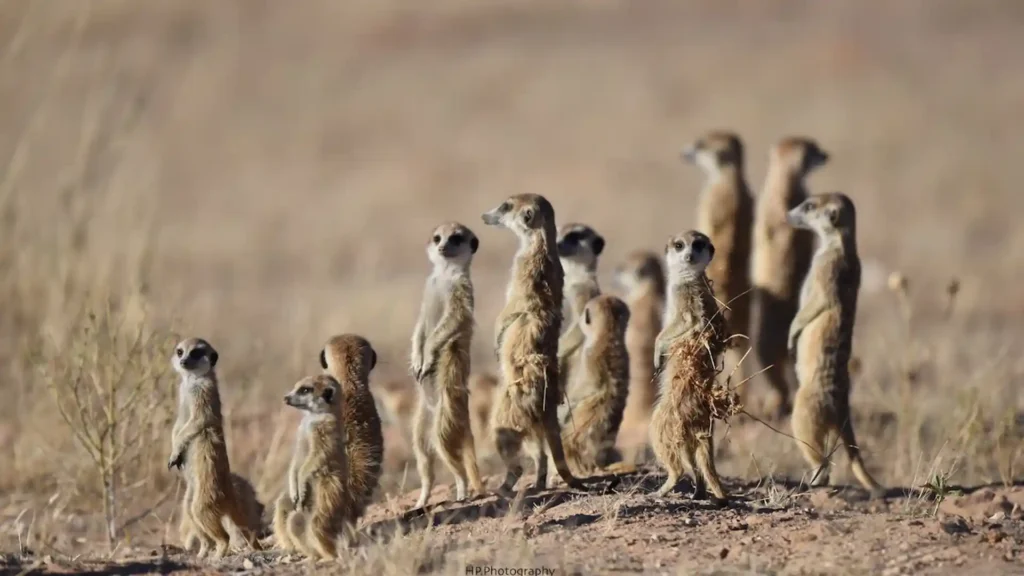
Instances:
[[[470,427],[470,344],[473,341],[473,281],[470,265],[480,241],[457,222],[434,229],[427,242],[433,271],[423,290],[420,318],[413,331],[413,376],[420,383],[413,423],[413,446],[426,505],[434,487],[434,452],[455,477],[456,500],[466,499],[467,481],[483,493]]]

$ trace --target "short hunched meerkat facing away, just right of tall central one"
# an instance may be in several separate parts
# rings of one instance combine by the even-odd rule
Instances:
[[[629,306],[610,294],[591,298],[583,308],[584,344],[572,373],[570,412],[562,420],[562,446],[572,474],[588,476],[622,460],[615,437],[630,389],[629,321]]]

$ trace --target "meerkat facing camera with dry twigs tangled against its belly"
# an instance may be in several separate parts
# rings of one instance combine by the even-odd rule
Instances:
[[[708,236],[689,231],[673,237],[665,249],[669,289],[665,328],[654,343],[654,372],[659,376],[659,395],[650,419],[650,444],[668,479],[657,496],[671,492],[685,468],[693,472],[694,499],[727,498],[715,469],[711,407],[696,390],[715,378],[715,365],[726,342],[726,323],[706,270],[714,260],[715,245]],[[699,338],[710,342],[713,362],[709,370],[703,345],[699,352],[685,349]]]

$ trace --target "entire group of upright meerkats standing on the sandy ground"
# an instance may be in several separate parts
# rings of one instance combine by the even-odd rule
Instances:
[[[809,194],[804,183],[828,155],[810,138],[782,138],[771,150],[756,203],[736,134],[710,132],[683,156],[708,178],[697,229],[671,237],[662,255],[629,253],[613,270],[622,297],[599,288],[604,238],[584,223],[559,229],[545,197],[514,195],[481,215],[518,240],[495,323],[497,374],[473,372],[470,363],[470,269],[480,241],[454,221],[433,230],[426,243],[432,270],[411,338],[415,409],[385,399],[391,418],[413,421],[421,481],[414,507],[430,500],[438,456],[455,479],[454,500],[482,495],[480,446],[504,465],[495,489],[503,496],[516,492],[524,451],[534,456],[535,489],[547,488],[550,457],[565,485],[586,490],[593,475],[630,469],[638,449],[649,445],[667,472],[656,496],[689,471],[694,498],[710,491],[724,503],[713,439],[720,416],[707,393],[721,384],[724,357],[744,347],[736,336],[748,332],[777,396],[775,415],[792,418],[811,484],[829,482],[828,443],[839,440],[857,480],[882,492],[850,420],[848,366],[860,285],[854,204],[841,193]],[[181,384],[168,467],[179,468],[185,481],[182,542],[190,549],[198,540],[199,556],[213,550],[219,558],[233,528],[259,549],[263,506],[252,485],[230,470],[218,354],[208,341],[187,338],[171,360]],[[279,548],[332,559],[353,541],[384,454],[370,386],[377,360],[365,337],[333,336],[319,352],[323,372],[299,379],[285,396],[303,417],[270,523]]]

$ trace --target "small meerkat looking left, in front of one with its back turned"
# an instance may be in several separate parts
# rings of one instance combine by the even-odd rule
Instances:
[[[288,467],[288,491],[274,510],[274,538],[309,558],[334,559],[357,517],[348,486],[341,384],[330,374],[306,376],[285,395],[304,412]]]

